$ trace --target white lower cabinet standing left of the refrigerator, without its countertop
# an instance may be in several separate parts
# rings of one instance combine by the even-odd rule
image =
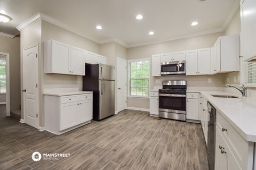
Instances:
[[[44,96],[45,130],[62,134],[92,120],[92,93]]]

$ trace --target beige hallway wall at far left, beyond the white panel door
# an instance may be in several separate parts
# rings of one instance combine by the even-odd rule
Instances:
[[[0,52],[9,53],[10,62],[10,110],[20,109],[20,38],[0,36]]]

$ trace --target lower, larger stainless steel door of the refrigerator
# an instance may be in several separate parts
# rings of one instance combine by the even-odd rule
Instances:
[[[99,119],[115,114],[115,81],[99,80]]]

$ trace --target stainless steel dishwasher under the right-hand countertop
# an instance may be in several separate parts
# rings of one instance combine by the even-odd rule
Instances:
[[[209,169],[214,170],[215,164],[215,137],[216,137],[216,109],[207,101],[208,114],[208,139],[207,139],[207,159]]]

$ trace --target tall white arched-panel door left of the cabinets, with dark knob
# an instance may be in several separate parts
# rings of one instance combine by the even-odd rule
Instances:
[[[38,45],[23,49],[24,122],[38,128]]]

